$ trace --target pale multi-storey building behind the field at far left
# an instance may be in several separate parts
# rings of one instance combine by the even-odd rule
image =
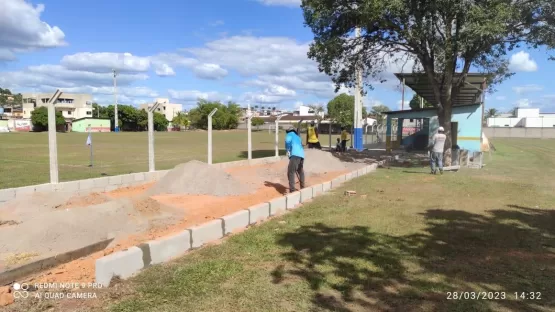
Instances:
[[[23,93],[23,118],[31,118],[37,107],[47,106],[52,93]],[[82,93],[62,93],[54,107],[62,112],[66,121],[92,117],[92,95]]]

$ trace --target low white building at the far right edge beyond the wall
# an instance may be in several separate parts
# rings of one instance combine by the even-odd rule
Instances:
[[[555,113],[540,113],[539,108],[518,108],[516,117],[491,117],[487,120],[488,127],[523,127],[552,128],[555,127]]]

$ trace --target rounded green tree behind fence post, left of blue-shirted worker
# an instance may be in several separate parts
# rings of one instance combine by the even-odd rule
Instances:
[[[212,129],[228,130],[235,129],[239,125],[241,108],[234,102],[224,105],[220,102],[209,102],[199,100],[197,107],[189,111],[191,124],[198,129],[208,129],[208,115],[214,108],[218,111],[212,116]]]

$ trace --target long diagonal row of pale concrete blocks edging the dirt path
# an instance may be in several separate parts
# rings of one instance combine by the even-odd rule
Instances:
[[[272,158],[275,159],[275,157]],[[327,181],[305,188],[300,192],[294,192],[286,196],[272,199],[267,203],[251,206],[245,210],[240,210],[221,217],[220,219],[212,220],[208,223],[187,229],[185,232],[176,235],[184,235],[182,238],[161,238],[147,244],[139,245],[138,247],[132,247],[128,250],[116,252],[112,255],[100,258],[97,260],[97,272],[95,274],[96,282],[107,286],[113,276],[117,275],[122,279],[130,277],[142,268],[148,267],[150,264],[166,262],[171,258],[182,255],[189,250],[189,248],[199,248],[205,243],[223,238],[237,229],[248,228],[271,216],[296,209],[299,207],[301,201],[305,202],[313,197],[322,195],[332,188],[337,188],[345,183],[347,178],[351,180],[355,177],[361,177],[365,174],[374,172],[377,168],[378,164],[372,164],[342,175],[332,181]],[[184,233],[190,233],[190,245],[181,243],[186,236]],[[148,248],[145,245],[147,245]],[[161,246],[165,246],[165,248]],[[105,260],[105,258],[109,259]],[[141,259],[142,262],[139,263],[137,259]],[[125,261],[129,261],[129,265],[123,268],[122,263],[125,263]]]

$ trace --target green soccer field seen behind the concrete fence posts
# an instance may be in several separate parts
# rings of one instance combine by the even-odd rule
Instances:
[[[93,133],[93,166],[89,167],[87,133],[58,133],[60,181],[148,171],[148,133]],[[280,150],[284,133],[280,133]],[[156,170],[173,168],[192,159],[207,161],[205,131],[156,132]],[[253,131],[253,158],[275,155],[275,133]],[[247,132],[214,131],[213,161],[247,158]],[[280,153],[284,153],[281,151]],[[0,189],[48,183],[48,133],[0,135]]]

